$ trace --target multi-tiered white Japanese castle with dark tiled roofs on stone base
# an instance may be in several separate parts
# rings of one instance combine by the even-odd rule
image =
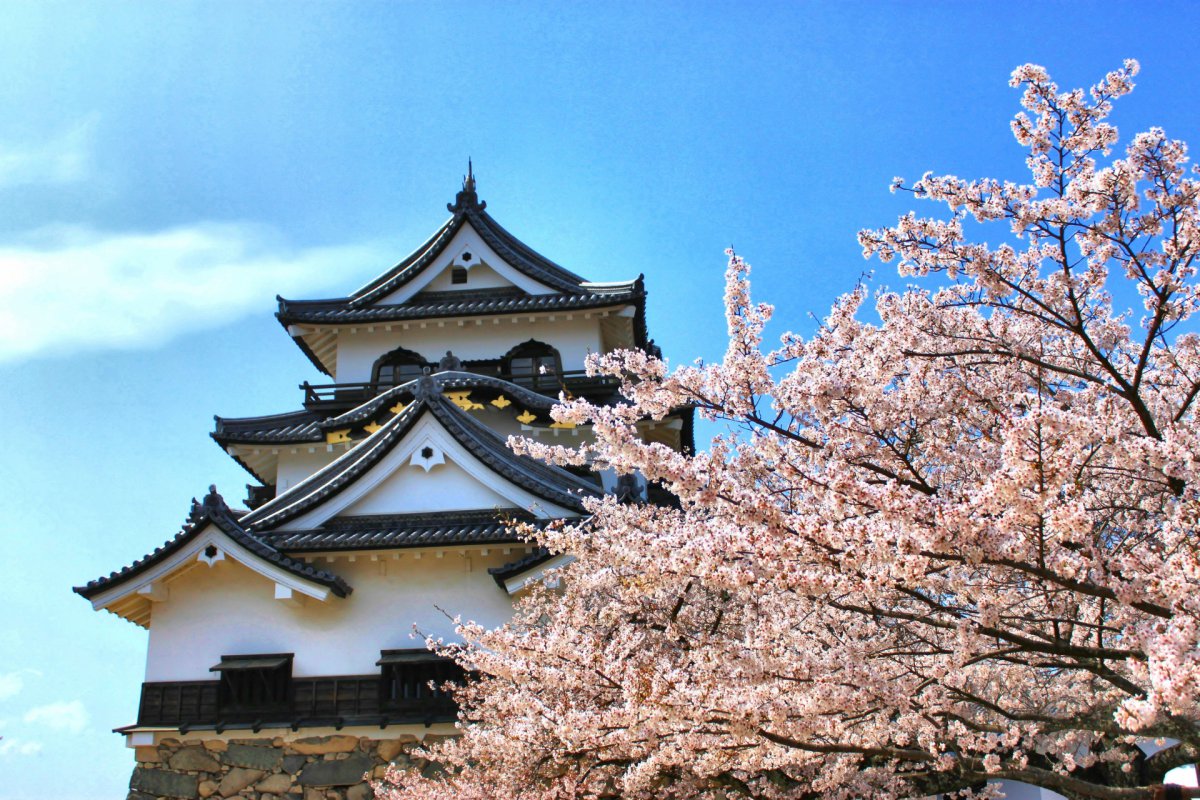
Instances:
[[[349,296],[280,299],[276,317],[330,384],[302,408],[216,417],[211,437],[254,479],[246,509],[215,488],[164,545],[76,591],[149,631],[130,798],[360,800],[364,776],[452,735],[460,668],[414,628],[456,615],[500,625],[570,559],[521,539],[586,515],[636,475],[516,456],[510,435],[586,440],[554,422],[559,393],[610,403],[589,353],[656,351],[642,278],[592,283],[487,213],[474,175],[451,217]],[[684,450],[691,414],[642,434]]]

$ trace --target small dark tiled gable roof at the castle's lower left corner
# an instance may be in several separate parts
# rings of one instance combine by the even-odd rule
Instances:
[[[224,499],[217,494],[216,487],[209,487],[209,494],[204,498],[204,503],[198,503],[194,499],[192,500],[192,511],[187,517],[187,522],[174,539],[163,542],[162,547],[157,548],[149,555],[138,559],[122,570],[113,572],[103,578],[89,581],[83,587],[76,587],[74,591],[83,595],[88,600],[91,600],[100,593],[124,583],[142,572],[145,572],[163,559],[179,552],[186,547],[188,542],[196,539],[196,536],[199,535],[199,533],[204,530],[209,523],[220,528],[222,533],[229,536],[229,539],[234,540],[254,555],[287,570],[296,577],[328,587],[329,590],[338,597],[346,597],[350,594],[350,591],[353,591],[346,581],[332,572],[318,570],[302,561],[290,559],[266,542],[252,536],[245,528],[242,528],[238,515],[234,511],[230,511],[229,506],[226,505]]]

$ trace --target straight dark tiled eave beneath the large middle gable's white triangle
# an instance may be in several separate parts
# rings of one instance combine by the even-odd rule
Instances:
[[[545,524],[545,521],[535,521],[520,512],[506,516],[504,511],[449,511],[390,517],[338,517],[316,530],[278,530],[260,536],[289,553],[512,543],[521,541],[511,530],[517,522],[538,527]]]

